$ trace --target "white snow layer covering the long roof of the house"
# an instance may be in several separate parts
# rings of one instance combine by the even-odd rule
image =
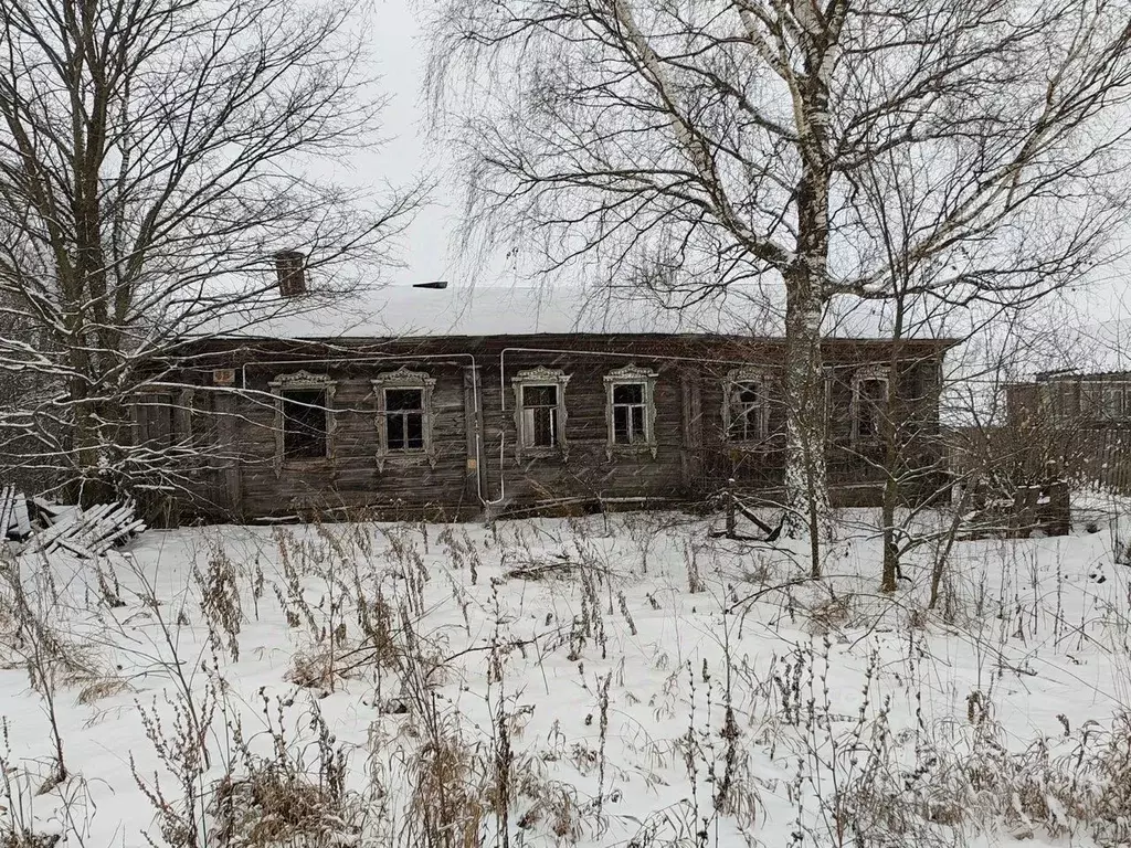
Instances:
[[[437,336],[733,335],[779,337],[780,298],[756,286],[731,286],[713,297],[580,286],[386,286],[309,309],[233,312],[221,336],[273,339],[420,338]],[[882,338],[882,311],[855,304],[826,315],[829,336]]]

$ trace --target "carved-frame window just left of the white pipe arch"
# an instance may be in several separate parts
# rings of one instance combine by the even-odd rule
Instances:
[[[398,369],[372,381],[377,398],[377,467],[385,470],[388,459],[422,455],[434,467],[432,443],[432,390],[435,378]]]

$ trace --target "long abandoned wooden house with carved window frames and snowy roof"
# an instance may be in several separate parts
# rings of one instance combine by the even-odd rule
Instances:
[[[303,296],[301,266],[279,269],[284,295]],[[140,443],[191,447],[181,455],[197,465],[164,485],[182,518],[675,505],[731,478],[772,497],[785,347],[749,318],[763,313],[737,289],[668,310],[561,289],[389,287],[187,341],[139,399],[136,430]],[[903,341],[892,367],[890,341],[829,335],[837,502],[879,502],[891,408],[918,435],[901,461],[939,469],[918,481],[938,485],[948,346]]]

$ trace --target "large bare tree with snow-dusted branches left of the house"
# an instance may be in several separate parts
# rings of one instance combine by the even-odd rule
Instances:
[[[337,0],[0,0],[0,367],[35,387],[0,425],[27,465],[83,502],[127,485],[128,401],[184,338],[387,256],[421,187],[363,202],[316,164],[373,144],[364,60]],[[278,296],[283,251],[307,296]]]

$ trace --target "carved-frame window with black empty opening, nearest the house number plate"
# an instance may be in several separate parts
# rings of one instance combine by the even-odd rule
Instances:
[[[275,395],[275,471],[291,461],[331,458],[334,381],[299,371],[270,383]]]

